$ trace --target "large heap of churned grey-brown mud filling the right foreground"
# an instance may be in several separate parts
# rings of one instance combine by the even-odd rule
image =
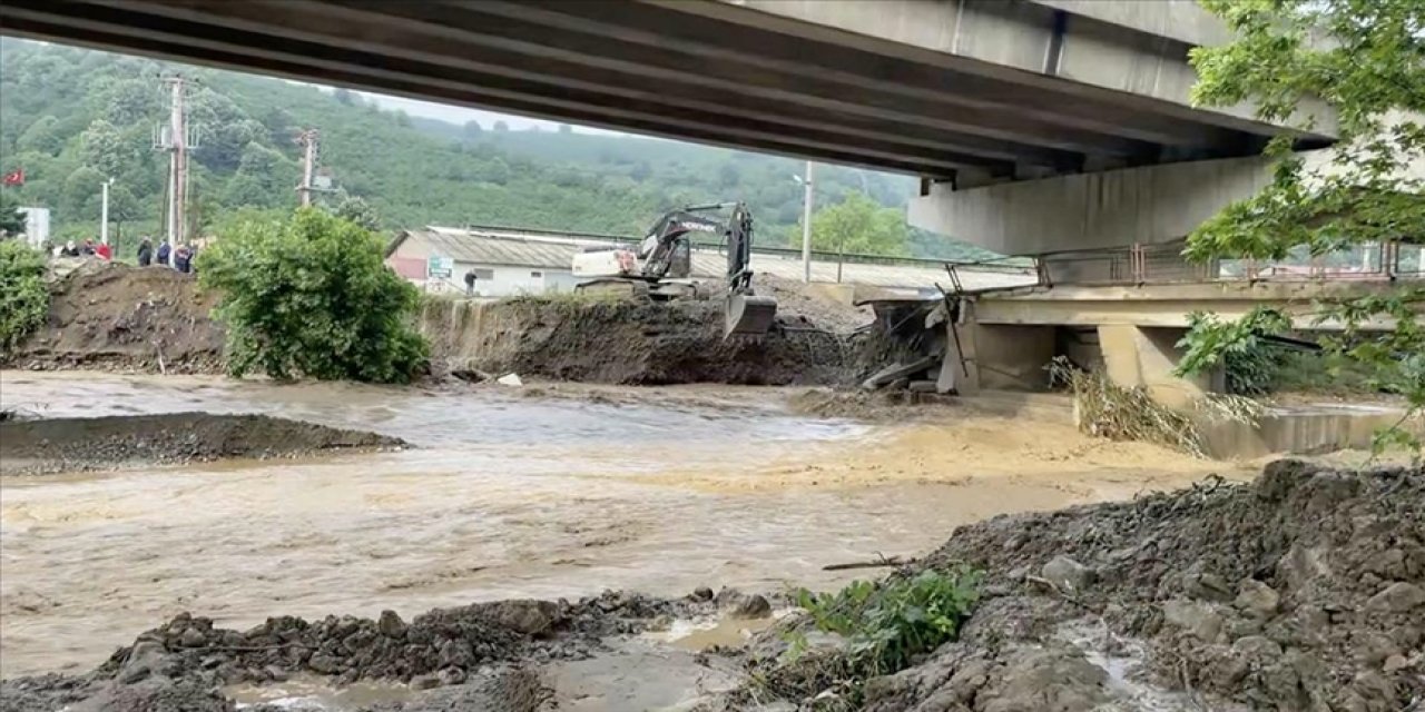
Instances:
[[[996,517],[915,568],[963,564],[986,582],[960,639],[839,709],[1394,712],[1425,699],[1418,467],[1280,461],[1253,484]],[[774,664],[762,679],[809,698],[832,685],[825,669]]]

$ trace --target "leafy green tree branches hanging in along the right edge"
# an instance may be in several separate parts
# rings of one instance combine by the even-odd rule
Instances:
[[[1204,0],[1235,31],[1234,41],[1191,53],[1198,71],[1193,98],[1206,105],[1254,101],[1268,121],[1320,122],[1312,101],[1335,110],[1338,144],[1330,165],[1291,154],[1290,137],[1268,147],[1274,179],[1188,238],[1193,258],[1280,259],[1294,248],[1324,253],[1341,246],[1425,235],[1425,3],[1419,0]],[[1411,171],[1415,171],[1414,174]],[[1425,407],[1425,289],[1322,305],[1322,319],[1345,325],[1332,347],[1385,373],[1387,387]],[[1395,329],[1367,332],[1372,319]],[[1187,343],[1230,353],[1251,329],[1204,320]],[[1421,441],[1392,429],[1378,444]]]

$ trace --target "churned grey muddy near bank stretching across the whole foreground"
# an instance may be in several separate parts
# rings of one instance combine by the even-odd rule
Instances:
[[[982,600],[958,641],[912,668],[858,688],[838,679],[849,654],[835,639],[789,659],[784,634],[805,625],[792,614],[697,658],[710,674],[741,668],[744,682],[680,709],[1395,712],[1425,698],[1421,468],[1281,461],[1251,484],[996,517],[893,575],[959,565],[985,571]],[[185,614],[87,675],[6,681],[0,709],[231,709],[219,684],[302,672],[439,688],[369,709],[560,709],[561,659],[597,659],[668,618],[770,608],[700,590],[248,631]]]

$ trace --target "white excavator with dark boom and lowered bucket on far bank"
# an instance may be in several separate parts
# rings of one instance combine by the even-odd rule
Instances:
[[[714,215],[731,209],[724,222]],[[777,316],[777,300],[752,292],[752,214],[742,202],[714,202],[668,211],[636,249],[591,248],[574,255],[580,292],[616,292],[647,299],[698,296],[693,273],[694,232],[721,236],[727,248],[722,336],[762,336]]]

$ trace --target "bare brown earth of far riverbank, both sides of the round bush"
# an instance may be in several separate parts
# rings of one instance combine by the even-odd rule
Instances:
[[[517,298],[480,303],[432,299],[420,329],[437,376],[452,370],[520,373],[618,384],[849,384],[893,360],[865,308],[841,305],[794,282],[768,283],[778,326],[764,339],[722,339],[717,298],[636,300]],[[16,369],[221,373],[217,295],[171,269],[86,262],[51,283],[43,329],[0,359]],[[889,349],[889,350],[888,350]]]

